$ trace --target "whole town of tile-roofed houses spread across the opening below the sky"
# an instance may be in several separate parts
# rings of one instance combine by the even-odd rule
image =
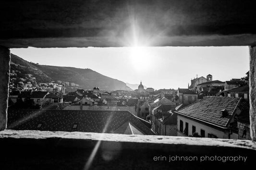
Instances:
[[[96,132],[90,130],[92,127],[89,126],[98,124],[83,123],[78,117],[84,116],[83,119],[91,120],[90,122],[94,122],[92,119],[98,120],[101,122],[99,126],[102,127],[106,124],[102,114],[108,114],[111,123],[115,122],[118,125],[113,125],[114,127],[105,133],[250,139],[249,87],[248,80],[244,78],[222,82],[213,80],[212,75],[209,74],[207,78],[202,76],[191,79],[191,85],[188,85],[187,89],[178,88],[178,90],[144,89],[141,82],[135,91],[108,92],[94,87],[89,91],[77,89],[65,93],[63,86],[60,92],[55,93],[47,91],[14,93],[14,91],[10,93],[10,100],[13,103],[17,98],[22,100],[31,98],[35,103],[45,106],[42,107],[43,111],[40,115],[43,112],[58,117],[54,119],[57,122],[52,124],[59,125],[60,128],[55,127],[54,130]],[[53,107],[45,103],[56,103],[54,110],[61,110],[61,114],[60,111],[49,110]],[[37,114],[37,111],[24,112],[24,116]],[[19,118],[16,115],[19,112],[10,109],[10,113],[13,119]],[[66,130],[58,122],[63,119],[59,117],[65,115],[76,116],[76,118],[68,118],[71,123],[66,123],[68,120],[62,121],[70,124],[69,129]],[[119,116],[126,118],[121,121]],[[35,120],[37,123],[33,127],[21,128],[19,125],[10,125],[10,129],[51,130],[47,121],[49,120]],[[88,127],[85,128],[84,124]]]

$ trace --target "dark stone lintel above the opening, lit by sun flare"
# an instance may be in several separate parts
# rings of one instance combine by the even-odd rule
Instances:
[[[256,45],[255,5],[253,0],[1,0],[0,45]]]

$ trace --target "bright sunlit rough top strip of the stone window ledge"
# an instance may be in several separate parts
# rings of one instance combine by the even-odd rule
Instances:
[[[31,130],[4,130],[0,131],[0,140],[5,139],[35,139],[50,140],[59,139],[65,141],[93,142],[125,142],[145,144],[167,144],[167,145],[187,145],[187,146],[209,146],[209,147],[235,147],[256,150],[256,142],[251,140],[236,139],[215,139],[215,138],[196,138],[183,136],[140,136],[122,134],[100,134],[84,132],[49,132]],[[66,147],[72,147],[66,146]],[[83,146],[81,146],[83,147]],[[135,146],[134,146],[135,147]]]

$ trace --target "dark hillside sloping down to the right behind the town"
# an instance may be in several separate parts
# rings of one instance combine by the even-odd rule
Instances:
[[[100,90],[132,90],[126,84],[118,79],[112,79],[104,76],[91,69],[72,68],[72,67],[58,67],[39,65],[28,62],[21,57],[11,55],[11,71],[17,74],[17,78],[27,79],[27,74],[31,74],[39,82],[50,81],[66,81],[79,85],[79,88],[93,89],[98,86]],[[18,80],[17,80],[18,81]]]

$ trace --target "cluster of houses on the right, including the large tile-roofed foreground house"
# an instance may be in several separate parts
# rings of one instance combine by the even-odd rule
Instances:
[[[209,74],[192,79],[188,89],[178,89],[178,102],[161,98],[147,104],[152,130],[158,135],[250,139],[248,94],[244,78],[222,82]]]

